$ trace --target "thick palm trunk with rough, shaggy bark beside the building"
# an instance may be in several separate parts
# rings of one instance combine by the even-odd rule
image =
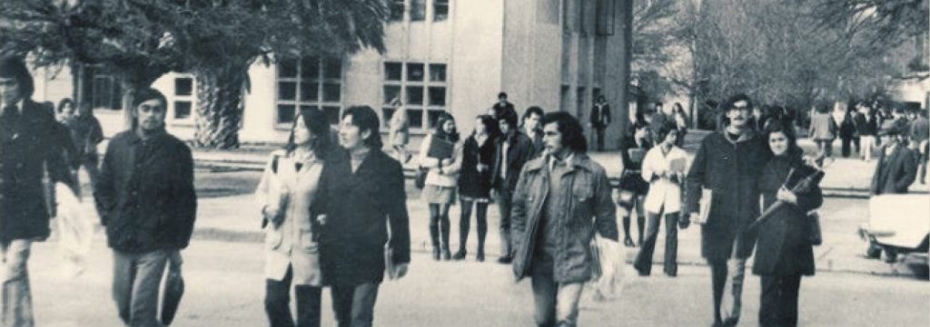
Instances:
[[[242,94],[246,69],[201,71],[197,81],[197,131],[194,144],[199,147],[231,149],[239,147],[242,121]]]

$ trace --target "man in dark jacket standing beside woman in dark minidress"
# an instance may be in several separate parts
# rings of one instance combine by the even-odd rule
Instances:
[[[517,114],[507,113],[498,119],[501,135],[491,169],[491,189],[495,193],[500,211],[500,254],[498,262],[511,263],[511,200],[517,187],[520,171],[526,161],[533,158],[533,141],[517,130]]]

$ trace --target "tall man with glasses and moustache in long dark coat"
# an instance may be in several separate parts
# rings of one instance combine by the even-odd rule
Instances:
[[[708,135],[701,142],[687,174],[684,210],[701,224],[701,256],[711,267],[714,326],[736,325],[746,258],[752,253],[754,237],[746,228],[759,215],[756,176],[770,157],[764,137],[753,131],[749,96],[737,94],[724,103],[724,131]],[[698,202],[710,191],[710,211],[701,217]],[[702,208],[705,209],[705,208]],[[721,304],[727,270],[733,283],[733,308]],[[723,320],[722,313],[726,318]]]

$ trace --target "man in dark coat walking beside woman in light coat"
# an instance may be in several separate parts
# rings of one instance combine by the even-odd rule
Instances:
[[[410,262],[404,170],[381,151],[379,126],[371,107],[346,109],[342,149],[326,160],[311,208],[322,218],[320,266],[340,327],[371,326],[385,269],[400,278]]]

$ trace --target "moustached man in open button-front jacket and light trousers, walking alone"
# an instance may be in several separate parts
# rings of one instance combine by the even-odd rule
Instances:
[[[596,264],[594,233],[616,241],[617,220],[604,168],[586,154],[578,120],[542,119],[546,153],[526,163],[513,195],[513,273],[531,279],[538,326],[578,324],[578,300]]]

